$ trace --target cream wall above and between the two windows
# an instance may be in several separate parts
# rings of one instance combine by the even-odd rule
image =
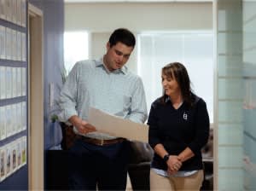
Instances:
[[[212,30],[212,3],[66,3],[65,31],[91,32],[90,58],[101,57],[119,27],[145,31]],[[137,72],[137,50],[127,67]]]

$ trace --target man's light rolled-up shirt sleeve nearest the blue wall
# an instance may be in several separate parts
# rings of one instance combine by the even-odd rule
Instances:
[[[57,100],[61,112],[58,114],[58,119],[61,122],[68,124],[68,119],[73,115],[78,115],[77,107],[77,91],[79,80],[79,62],[75,64],[72,71],[69,72],[67,80],[62,87],[60,96]]]

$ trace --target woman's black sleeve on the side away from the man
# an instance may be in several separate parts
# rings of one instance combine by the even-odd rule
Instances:
[[[201,152],[201,148],[207,144],[210,121],[207,112],[207,104],[205,101],[200,100],[197,102],[195,114],[195,139],[189,143],[189,148],[193,153]]]

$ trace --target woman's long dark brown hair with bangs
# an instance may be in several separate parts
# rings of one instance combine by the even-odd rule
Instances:
[[[179,62],[172,62],[162,68],[162,74],[166,75],[166,77],[176,79],[183,96],[183,101],[186,102],[189,107],[193,107],[195,98],[191,94],[190,79],[186,67]],[[165,103],[167,96],[165,92],[163,94],[161,101]]]

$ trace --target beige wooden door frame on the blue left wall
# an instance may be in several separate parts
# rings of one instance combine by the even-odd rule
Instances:
[[[44,190],[43,12],[28,4],[28,177],[29,190]]]

